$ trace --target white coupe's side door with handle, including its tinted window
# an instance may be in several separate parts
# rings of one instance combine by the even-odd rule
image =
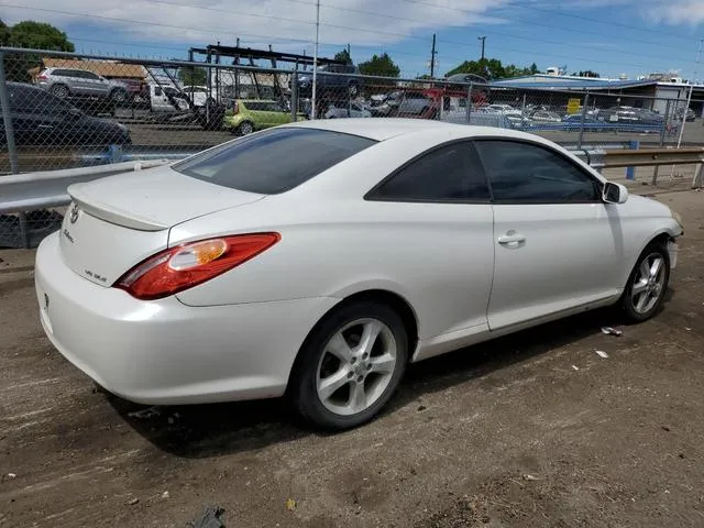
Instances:
[[[563,153],[524,140],[477,140],[494,204],[488,324],[497,330],[618,295],[618,206]]]

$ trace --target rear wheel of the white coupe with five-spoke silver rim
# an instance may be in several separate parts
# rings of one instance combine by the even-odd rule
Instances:
[[[369,300],[345,304],[304,343],[290,400],[304,420],[318,428],[358,427],[392,398],[407,360],[408,337],[398,314]]]

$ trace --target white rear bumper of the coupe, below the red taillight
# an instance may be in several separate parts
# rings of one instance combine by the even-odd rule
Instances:
[[[54,346],[107,391],[150,405],[283,395],[304,339],[338,301],[141,301],[75,274],[56,234],[37,250],[35,288]]]

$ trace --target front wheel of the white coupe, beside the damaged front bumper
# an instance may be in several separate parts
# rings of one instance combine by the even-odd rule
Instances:
[[[664,301],[669,280],[668,249],[662,242],[652,242],[638,257],[620,300],[628,319],[642,322],[653,317]]]

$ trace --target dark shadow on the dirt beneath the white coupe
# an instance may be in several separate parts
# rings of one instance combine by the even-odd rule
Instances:
[[[615,310],[600,309],[411,364],[382,415],[388,416],[425,394],[548,354],[593,336],[603,326],[623,324]],[[330,435],[296,421],[283,398],[174,407],[139,406],[112,395],[107,398],[125,422],[146,440],[165,452],[184,458],[219,457],[310,435]]]

